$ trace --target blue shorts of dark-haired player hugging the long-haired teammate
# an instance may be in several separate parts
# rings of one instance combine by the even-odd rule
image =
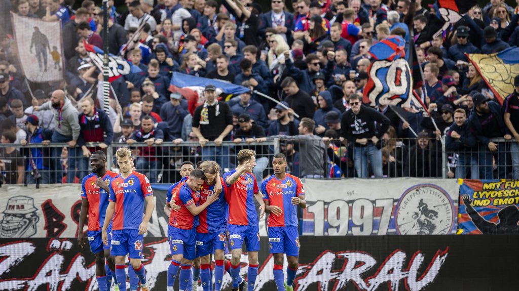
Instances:
[[[196,258],[196,230],[181,229],[168,225],[168,240],[171,255],[182,254],[188,260]]]

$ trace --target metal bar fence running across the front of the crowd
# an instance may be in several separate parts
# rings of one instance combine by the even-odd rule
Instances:
[[[236,155],[243,148],[257,152],[254,174],[258,182],[273,173],[272,156],[284,153],[287,172],[302,178],[514,178],[519,171],[515,140],[493,139],[496,151],[487,146],[448,151],[443,140],[389,139],[377,144],[344,143],[318,137],[270,139],[265,142],[112,143],[104,151],[108,169],[117,171],[115,153],[121,147],[133,152],[136,170],[152,183],[173,183],[180,179],[184,161],[196,164],[212,159],[226,171],[236,167]],[[90,172],[89,153],[100,149],[87,144],[89,151],[66,143],[0,144],[1,183],[47,184],[79,182]]]

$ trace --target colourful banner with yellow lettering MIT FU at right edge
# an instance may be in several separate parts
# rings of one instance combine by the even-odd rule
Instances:
[[[519,181],[463,180],[458,234],[519,234]]]

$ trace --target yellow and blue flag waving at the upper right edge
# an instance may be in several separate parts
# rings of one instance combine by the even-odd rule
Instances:
[[[514,92],[514,78],[519,75],[517,55],[519,55],[517,47],[491,54],[467,54],[470,62],[479,71],[500,104],[503,104],[504,98]]]

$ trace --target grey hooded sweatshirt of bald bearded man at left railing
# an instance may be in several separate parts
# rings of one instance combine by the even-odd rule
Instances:
[[[77,141],[79,137],[79,119],[76,108],[72,105],[68,98],[65,98],[65,103],[58,109],[52,108],[51,101],[44,103],[39,110],[50,110],[54,111],[54,121],[56,127],[54,130],[64,136],[72,136],[73,140]]]

